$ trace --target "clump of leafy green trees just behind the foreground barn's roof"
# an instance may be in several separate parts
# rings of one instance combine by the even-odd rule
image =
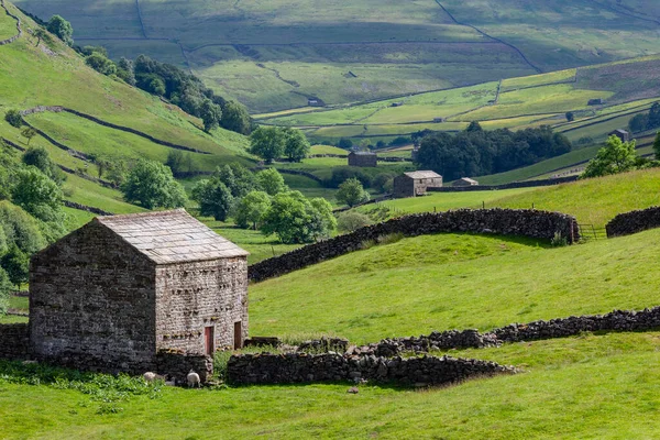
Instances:
[[[240,228],[275,234],[283,243],[308,243],[337,228],[332,206],[323,198],[307,199],[290,190],[275,168],[252,173],[239,164],[219,167],[193,189],[202,216]]]

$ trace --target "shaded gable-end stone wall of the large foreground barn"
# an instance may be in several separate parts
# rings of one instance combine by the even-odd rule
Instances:
[[[81,370],[144,371],[156,351],[154,286],[152,262],[88,223],[31,262],[32,354]]]

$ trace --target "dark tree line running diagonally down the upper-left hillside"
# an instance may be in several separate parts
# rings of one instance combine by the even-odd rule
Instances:
[[[138,56],[135,61],[122,57],[114,63],[108,58],[108,51],[102,46],[74,45],[74,29],[61,15],[53,15],[47,22],[34,15],[30,16],[42,26],[35,31],[35,36],[40,41],[51,41],[51,36],[44,31],[47,30],[81,54],[89,67],[167,99],[185,112],[200,118],[205,131],[209,132],[218,127],[241,134],[250,134],[252,131],[252,119],[243,106],[217,96],[195,75],[172,64],[160,63],[146,55]]]

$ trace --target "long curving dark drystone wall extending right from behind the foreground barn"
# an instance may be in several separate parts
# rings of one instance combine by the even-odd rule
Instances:
[[[561,233],[569,243],[580,240],[578,221],[560,212],[532,209],[460,209],[447,212],[428,212],[392,219],[369,226],[355,232],[339,235],[319,243],[297,249],[280,256],[250,266],[249,276],[254,282],[284,275],[324,260],[361,249],[362,243],[394,233],[417,237],[438,232],[474,232],[499,235],[528,237],[551,240]]]

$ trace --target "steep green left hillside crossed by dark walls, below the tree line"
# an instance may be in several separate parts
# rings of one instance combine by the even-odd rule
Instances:
[[[98,74],[57,38],[51,43],[37,38],[34,22],[11,3],[4,4],[21,19],[23,33],[0,46],[0,138],[15,150],[26,148],[28,140],[4,121],[4,113],[28,111],[24,120],[40,131],[30,145],[48,150],[68,172],[64,186],[68,200],[118,213],[141,210],[123,202],[118,190],[101,185],[91,161],[95,156],[165,162],[169,152],[179,148],[194,170],[212,170],[228,162],[253,164],[244,136],[222,129],[205,133],[201,121]],[[15,33],[15,20],[2,12],[0,29],[13,26]],[[72,111],[59,111],[61,107]],[[72,226],[89,218],[73,217]]]

